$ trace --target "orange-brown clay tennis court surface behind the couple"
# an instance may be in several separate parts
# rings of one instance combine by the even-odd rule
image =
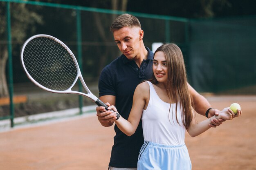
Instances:
[[[218,109],[238,102],[243,114],[198,137],[186,134],[192,169],[256,170],[256,96],[207,99]],[[94,114],[0,132],[0,170],[107,170],[113,136]]]

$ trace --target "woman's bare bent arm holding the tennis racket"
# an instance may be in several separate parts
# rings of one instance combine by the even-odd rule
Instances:
[[[146,101],[149,100],[149,85],[147,82],[143,82],[137,86],[133,95],[133,104],[132,109],[130,111],[130,115],[128,121],[123,117],[119,117],[118,120],[115,120],[118,128],[124,132],[127,136],[131,136],[135,133],[139,121],[141,119],[141,115],[146,104]],[[117,111],[115,106],[108,107],[114,111]]]

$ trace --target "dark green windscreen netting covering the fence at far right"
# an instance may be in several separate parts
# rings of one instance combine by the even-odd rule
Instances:
[[[218,93],[256,84],[255,19],[190,22],[189,74],[195,89]]]

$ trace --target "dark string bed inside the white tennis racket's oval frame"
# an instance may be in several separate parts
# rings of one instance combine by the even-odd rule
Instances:
[[[69,51],[50,38],[32,39],[24,49],[23,61],[29,75],[51,90],[67,90],[78,74]]]

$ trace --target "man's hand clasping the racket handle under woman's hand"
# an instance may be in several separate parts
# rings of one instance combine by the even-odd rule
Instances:
[[[106,103],[107,106],[110,106],[109,103]],[[102,126],[109,127],[112,126],[114,120],[117,119],[117,115],[112,110],[106,110],[103,106],[98,106],[96,108],[97,117]]]

